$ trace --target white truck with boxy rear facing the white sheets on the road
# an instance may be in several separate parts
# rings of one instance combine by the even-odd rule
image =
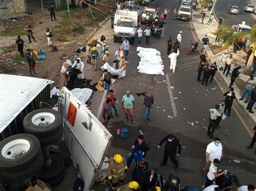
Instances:
[[[134,43],[138,27],[138,12],[117,9],[114,14],[114,38],[113,41],[123,41],[127,38],[130,44]]]

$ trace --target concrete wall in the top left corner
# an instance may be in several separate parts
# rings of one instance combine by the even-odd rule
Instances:
[[[25,12],[24,0],[4,0],[0,2],[1,16],[14,16],[15,13]]]

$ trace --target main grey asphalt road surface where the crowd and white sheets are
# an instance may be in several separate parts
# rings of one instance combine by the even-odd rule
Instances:
[[[129,63],[126,63],[126,76],[122,80],[116,80],[112,86],[112,89],[117,94],[117,108],[120,117],[114,117],[109,123],[114,138],[110,150],[107,153],[107,157],[110,158],[113,157],[114,154],[120,153],[126,158],[134,140],[138,136],[138,130],[142,129],[145,133],[145,140],[150,145],[150,150],[146,155],[149,168],[162,173],[165,179],[170,173],[178,175],[181,179],[181,187],[189,185],[200,189],[205,183],[202,168],[205,164],[206,146],[208,143],[212,142],[212,139],[206,136],[206,128],[210,115],[208,109],[213,108],[215,104],[218,104],[220,100],[225,98],[222,90],[226,91],[227,87],[223,84],[218,75],[216,77],[223,89],[221,89],[215,81],[209,84],[208,87],[201,86],[201,84],[196,81],[199,52],[196,51],[190,55],[185,54],[190,40],[193,39],[190,23],[181,20],[173,20],[171,14],[174,8],[179,7],[180,1],[181,0],[177,0],[170,3],[169,1],[158,0],[157,4],[161,11],[165,8],[170,9],[170,13],[165,20],[167,25],[164,26],[164,37],[161,37],[160,40],[151,37],[150,46],[145,45],[145,38],[143,38],[142,47],[156,48],[161,52],[165,65],[165,75],[138,73],[137,66],[139,56],[136,52],[137,39],[135,41],[136,43],[131,45],[130,54],[128,56]],[[173,40],[176,39],[179,31],[183,31],[183,44],[181,44],[180,55],[177,60],[176,73],[173,74],[169,69],[170,59],[167,55],[166,41],[169,37],[172,37]],[[110,21],[107,22],[95,36],[100,37],[102,34],[106,37],[107,45],[110,46],[110,60],[112,62],[114,59],[113,54],[121,43],[113,43],[113,30],[110,27]],[[85,76],[90,75],[92,79],[97,80],[101,76],[100,72],[95,73],[93,67],[90,65],[85,65],[85,70]],[[170,86],[174,87],[173,90],[171,90],[165,82],[158,83],[167,80],[167,78],[170,79]],[[212,90],[211,88],[216,89]],[[125,123],[123,120],[124,114],[121,110],[120,102],[126,90],[131,91],[136,101],[136,109],[134,110],[134,121],[136,123],[134,125]],[[152,91],[154,96],[154,109],[151,113],[152,121],[148,124],[144,124],[144,97],[137,97],[135,93],[148,90]],[[177,117],[173,117],[169,90],[172,91],[173,97],[177,97],[174,99]],[[99,100],[99,102],[100,101],[101,100]],[[234,105],[238,108],[241,118],[252,129],[254,124],[251,124],[245,112],[243,112],[236,103],[234,103]],[[95,105],[92,104],[91,108],[93,107],[95,107]],[[101,110],[102,108],[99,109]],[[96,115],[97,110],[94,111],[93,114]],[[173,118],[167,116],[172,116]],[[103,121],[103,118],[100,116],[99,120]],[[199,123],[197,124],[196,121]],[[188,124],[188,122],[193,122],[194,126]],[[129,131],[126,139],[120,138],[120,136],[116,134],[116,130],[124,126],[126,126]],[[231,111],[230,117],[225,119],[225,121],[221,121],[220,126],[221,128],[214,132],[214,137],[219,137],[224,147],[224,157],[221,159],[220,168],[228,169],[228,171],[236,174],[242,185],[248,185],[250,183],[255,184],[256,162],[254,150],[245,148],[250,144],[251,137],[234,110]],[[166,166],[160,166],[163,160],[164,145],[162,145],[160,149],[157,148],[157,145],[160,140],[169,133],[179,138],[183,146],[181,155],[178,158],[179,168],[177,170],[173,169],[170,160]],[[238,159],[241,163],[235,164],[233,159]],[[231,163],[229,161],[231,161]],[[131,180],[133,168],[134,162],[127,174],[126,182]],[[71,183],[69,183],[69,187],[70,186],[72,186]],[[61,188],[65,189],[67,186],[59,186],[56,190],[63,190]],[[94,189],[104,190],[105,185],[96,183]]]

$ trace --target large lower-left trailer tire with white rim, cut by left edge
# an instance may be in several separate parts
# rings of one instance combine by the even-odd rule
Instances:
[[[44,157],[38,138],[18,134],[0,142],[0,176],[5,181],[22,181],[35,176]]]

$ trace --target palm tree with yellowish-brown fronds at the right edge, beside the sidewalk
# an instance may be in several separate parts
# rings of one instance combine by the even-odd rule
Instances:
[[[232,33],[225,41],[225,46],[230,47],[233,45],[233,43],[239,44],[241,42],[246,42],[246,52],[252,49],[252,53],[246,65],[246,70],[250,72],[256,47],[256,25],[252,27],[251,31]]]

